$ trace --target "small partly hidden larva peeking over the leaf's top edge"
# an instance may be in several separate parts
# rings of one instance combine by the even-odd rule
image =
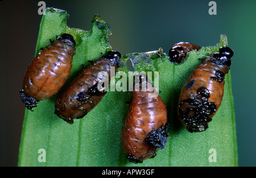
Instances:
[[[201,47],[195,44],[180,42],[172,46],[172,48],[169,50],[168,56],[170,57],[171,62],[182,63],[187,56],[187,52],[199,49],[201,49]]]

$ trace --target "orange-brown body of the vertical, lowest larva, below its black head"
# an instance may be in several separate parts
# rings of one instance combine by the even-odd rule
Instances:
[[[166,145],[168,136],[166,105],[159,95],[150,98],[148,94],[150,91],[132,92],[129,112],[122,129],[123,150],[127,158],[135,163],[155,156],[156,151]],[[150,135],[153,132],[155,135]],[[156,136],[161,137],[160,141],[156,138],[158,143],[148,142],[148,139],[152,141]]]

